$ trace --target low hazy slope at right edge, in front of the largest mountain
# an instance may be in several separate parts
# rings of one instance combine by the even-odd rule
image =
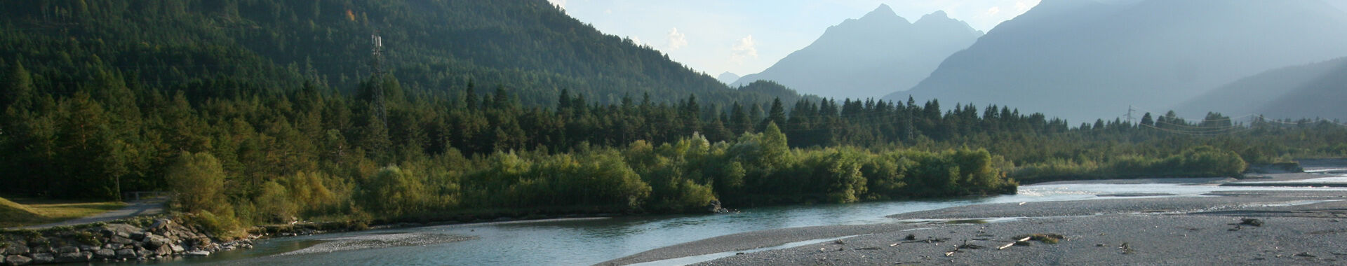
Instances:
[[[1312,116],[1293,116],[1281,117],[1273,114],[1294,114],[1301,112],[1281,112],[1299,109],[1296,105],[1303,105],[1313,101],[1299,101],[1301,103],[1292,103],[1303,97],[1292,97],[1293,91],[1296,95],[1313,95],[1316,90],[1331,89],[1336,77],[1347,75],[1343,73],[1347,67],[1347,58],[1325,60],[1312,64],[1301,64],[1293,67],[1284,67],[1277,70],[1270,70],[1261,73],[1258,75],[1247,77],[1237,82],[1220,86],[1215,90],[1203,93],[1202,95],[1193,97],[1183,103],[1173,106],[1179,114],[1199,116],[1207,112],[1220,112],[1228,116],[1245,116],[1245,114],[1266,114],[1269,118],[1301,118],[1301,117],[1332,117],[1340,114],[1329,113],[1316,113]],[[1343,89],[1343,82],[1339,85],[1339,90]],[[1280,98],[1286,98],[1285,102],[1273,105],[1274,101]],[[1344,98],[1335,98],[1334,101],[1342,101]],[[1286,105],[1290,103],[1290,105]],[[1335,103],[1342,105],[1342,103]],[[1342,113],[1342,112],[1339,112]]]

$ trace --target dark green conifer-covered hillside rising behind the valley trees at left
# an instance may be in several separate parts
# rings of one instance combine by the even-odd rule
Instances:
[[[189,97],[298,87],[352,91],[369,77],[373,39],[384,67],[409,90],[455,95],[469,79],[548,105],[568,89],[616,103],[649,93],[659,102],[793,101],[795,93],[740,93],[630,40],[603,35],[544,0],[16,1],[0,11],[5,66],[23,60],[36,82],[120,71],[133,83]]]

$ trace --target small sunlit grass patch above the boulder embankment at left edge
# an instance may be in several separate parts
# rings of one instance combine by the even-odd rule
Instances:
[[[35,226],[102,214],[127,207],[121,202],[75,202],[0,197],[0,227]]]

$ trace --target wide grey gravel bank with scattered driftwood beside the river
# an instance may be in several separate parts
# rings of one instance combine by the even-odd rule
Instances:
[[[1292,181],[1284,173],[1242,181]],[[1117,180],[1114,180],[1117,181]],[[1136,184],[1137,180],[1119,183]],[[1180,180],[1152,180],[1180,181]],[[1231,183],[1227,179],[1183,183]],[[1099,184],[1100,181],[1086,181]],[[1107,183],[1107,181],[1105,181]],[[1347,191],[1238,191],[1207,196],[978,204],[892,215],[894,223],[783,228],[723,235],[649,250],[599,265],[750,250],[700,265],[1343,265]],[[942,223],[947,220],[989,223]],[[1257,219],[1259,226],[1239,224]],[[1250,222],[1253,223],[1253,222]],[[997,247],[1030,234],[1057,243]],[[911,235],[911,238],[909,238]],[[962,246],[962,247],[960,247]]]

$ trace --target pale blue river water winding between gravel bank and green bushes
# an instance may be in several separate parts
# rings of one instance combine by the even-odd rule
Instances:
[[[1165,184],[1022,185],[1017,195],[975,199],[815,204],[741,210],[727,215],[678,215],[552,222],[431,226],[259,240],[252,250],[162,265],[593,265],[711,236],[806,226],[898,223],[886,215],[983,203],[1100,199],[1099,195],[1200,196],[1214,191],[1323,189],[1216,187],[1211,180]],[[447,234],[470,240],[287,255],[322,239],[380,234]],[[714,257],[706,258],[713,259]],[[665,263],[687,263],[688,259]],[[695,259],[692,261],[695,262]]]

